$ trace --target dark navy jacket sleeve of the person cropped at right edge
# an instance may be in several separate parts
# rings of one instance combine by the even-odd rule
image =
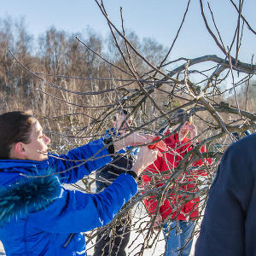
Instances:
[[[245,224],[249,219],[248,209],[252,207],[255,144],[255,136],[254,140],[247,137],[225,152],[209,191],[196,256],[253,255],[245,252]]]

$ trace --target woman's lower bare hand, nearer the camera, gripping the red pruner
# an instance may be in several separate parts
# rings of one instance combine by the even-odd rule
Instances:
[[[140,148],[139,154],[137,156],[137,161],[132,166],[131,171],[136,172],[139,176],[145,168],[154,163],[158,154],[158,149],[149,149],[147,146]]]

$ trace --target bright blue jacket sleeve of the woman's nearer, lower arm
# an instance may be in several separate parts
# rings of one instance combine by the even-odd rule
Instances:
[[[125,202],[137,193],[137,183],[121,174],[99,194],[63,189],[60,198],[39,212],[29,214],[29,223],[50,233],[79,233],[108,224]]]

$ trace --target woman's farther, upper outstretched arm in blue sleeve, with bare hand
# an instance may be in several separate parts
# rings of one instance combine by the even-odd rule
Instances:
[[[143,143],[149,143],[152,136],[132,133],[124,138],[116,139],[106,143],[103,138],[90,142],[79,148],[70,150],[67,154],[60,156],[49,156],[49,168],[58,172],[61,177],[61,183],[75,183],[85,175],[100,169],[108,164],[115,152],[128,145],[134,146]],[[144,163],[140,159],[137,161],[136,172],[142,172]]]

